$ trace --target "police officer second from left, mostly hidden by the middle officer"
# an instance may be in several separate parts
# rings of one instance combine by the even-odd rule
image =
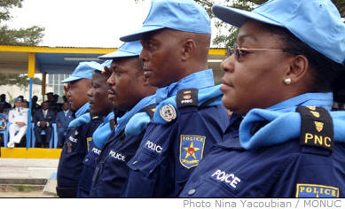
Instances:
[[[109,62],[105,62],[101,67],[95,68],[92,74],[91,87],[88,91],[90,114],[97,115],[101,118],[102,123],[92,134],[92,141],[88,141],[88,153],[85,159],[83,159],[77,197],[89,197],[92,175],[95,171],[96,159],[101,152],[101,144],[110,135],[112,124],[114,124],[113,104],[108,99],[106,76],[102,74],[102,71],[104,71],[102,67],[107,64],[110,66]]]

